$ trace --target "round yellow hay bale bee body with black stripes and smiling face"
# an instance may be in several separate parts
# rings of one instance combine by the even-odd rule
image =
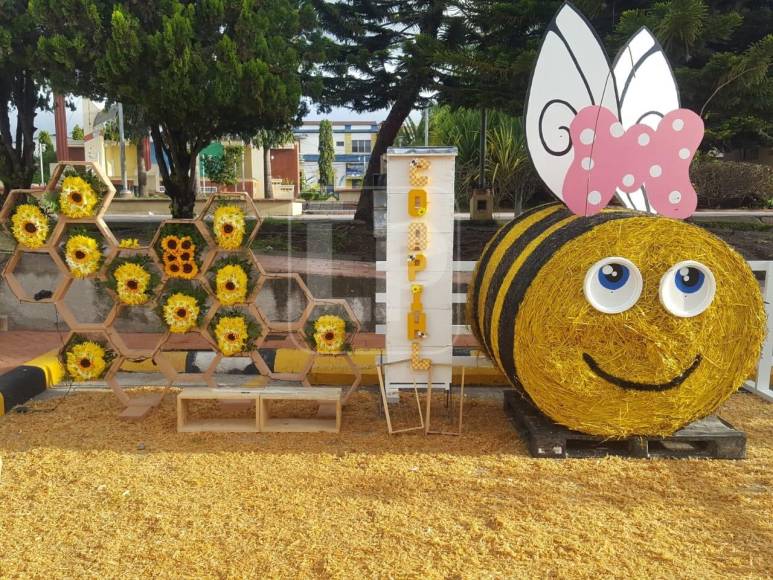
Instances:
[[[705,230],[561,204],[492,238],[467,315],[545,414],[609,437],[669,435],[714,411],[753,372],[765,317],[746,262]]]

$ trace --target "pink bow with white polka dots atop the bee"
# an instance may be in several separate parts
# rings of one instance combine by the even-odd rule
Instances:
[[[642,188],[657,213],[690,216],[698,205],[690,162],[703,139],[703,120],[687,109],[671,111],[657,129],[628,130],[605,107],[585,107],[569,128],[574,161],[564,178],[564,203],[577,215],[600,212],[615,190]]]

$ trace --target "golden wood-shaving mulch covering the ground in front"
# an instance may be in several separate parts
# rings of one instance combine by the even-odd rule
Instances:
[[[501,400],[465,435],[178,434],[107,392],[0,419],[2,577],[773,576],[773,405],[721,415],[748,459],[536,460]]]

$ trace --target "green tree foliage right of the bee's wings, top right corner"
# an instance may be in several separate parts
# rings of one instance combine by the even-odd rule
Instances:
[[[682,106],[706,125],[703,148],[773,144],[773,7],[759,0],[670,0],[621,13],[620,45],[648,26],[668,53]]]

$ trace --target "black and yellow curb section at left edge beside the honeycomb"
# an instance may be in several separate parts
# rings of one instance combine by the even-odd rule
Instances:
[[[64,369],[55,350],[0,375],[0,416],[63,378]]]

